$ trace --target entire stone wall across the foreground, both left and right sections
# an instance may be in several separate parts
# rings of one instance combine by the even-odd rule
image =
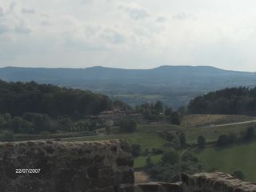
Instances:
[[[19,174],[16,169],[41,170]],[[0,192],[256,192],[256,185],[220,172],[134,185],[124,141],[28,141],[0,143]]]

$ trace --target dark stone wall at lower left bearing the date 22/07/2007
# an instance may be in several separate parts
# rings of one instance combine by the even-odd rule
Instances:
[[[17,174],[16,169],[41,170],[38,174]],[[133,190],[133,159],[126,142],[0,143],[1,192]]]

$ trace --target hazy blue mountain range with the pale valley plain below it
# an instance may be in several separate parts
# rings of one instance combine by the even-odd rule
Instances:
[[[209,91],[256,86],[255,72],[229,71],[209,66],[161,66],[155,69],[6,67],[0,69],[0,78],[90,89],[130,104],[163,100],[174,108]]]

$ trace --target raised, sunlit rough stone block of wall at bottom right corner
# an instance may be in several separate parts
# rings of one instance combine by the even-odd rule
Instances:
[[[253,182],[243,182],[221,172],[182,174],[184,192],[256,192]]]

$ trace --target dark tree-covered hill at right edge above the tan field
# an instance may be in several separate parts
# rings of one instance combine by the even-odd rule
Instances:
[[[255,88],[226,88],[190,101],[192,114],[256,115]]]

